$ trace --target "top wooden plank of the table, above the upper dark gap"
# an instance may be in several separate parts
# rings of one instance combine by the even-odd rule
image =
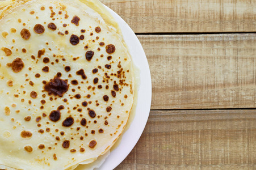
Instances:
[[[256,1],[100,1],[136,33],[256,31]]]

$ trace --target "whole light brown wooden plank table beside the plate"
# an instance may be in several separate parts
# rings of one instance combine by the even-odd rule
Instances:
[[[101,1],[152,74],[148,124],[116,169],[256,169],[256,1]]]

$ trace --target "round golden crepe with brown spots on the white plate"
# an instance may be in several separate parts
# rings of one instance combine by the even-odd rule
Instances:
[[[99,1],[0,2],[0,49],[0,169],[74,169],[110,150],[135,83]]]

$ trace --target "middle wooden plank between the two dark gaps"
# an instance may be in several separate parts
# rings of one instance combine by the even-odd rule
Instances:
[[[151,109],[255,108],[256,33],[138,35]]]

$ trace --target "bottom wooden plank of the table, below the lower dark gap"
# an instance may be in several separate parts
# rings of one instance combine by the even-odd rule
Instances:
[[[256,110],[151,111],[118,169],[255,169]]]

